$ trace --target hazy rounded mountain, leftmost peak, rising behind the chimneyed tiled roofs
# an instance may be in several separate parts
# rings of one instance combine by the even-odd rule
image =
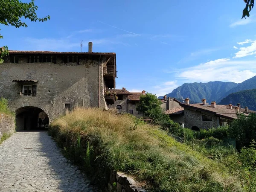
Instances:
[[[183,98],[188,97],[192,102],[201,103],[201,99],[207,102],[217,101],[223,98],[225,93],[236,87],[238,84],[233,82],[210,81],[208,83],[185,83],[177,87],[167,97]]]

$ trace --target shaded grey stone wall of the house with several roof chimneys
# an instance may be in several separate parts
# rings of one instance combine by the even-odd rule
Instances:
[[[202,121],[202,113],[200,111],[184,108],[184,127],[191,129],[193,126],[196,126],[200,129],[208,129],[219,126],[219,119],[217,116],[213,116],[210,113],[204,113],[204,115],[211,116],[212,121]]]

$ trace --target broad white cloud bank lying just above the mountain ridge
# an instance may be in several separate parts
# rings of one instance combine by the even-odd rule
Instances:
[[[177,78],[190,82],[232,81],[242,82],[256,76],[256,61],[217,59],[190,67],[177,74]]]

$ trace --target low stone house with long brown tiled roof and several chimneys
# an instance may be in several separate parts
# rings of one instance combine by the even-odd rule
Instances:
[[[189,99],[185,99],[185,103],[180,103],[184,108],[184,127],[199,131],[200,129],[208,129],[212,127],[229,125],[231,121],[237,118],[237,113],[256,113],[256,111],[248,108],[241,108],[230,105],[216,105],[216,102],[211,102],[209,105],[206,99],[202,99],[202,103],[189,104]]]

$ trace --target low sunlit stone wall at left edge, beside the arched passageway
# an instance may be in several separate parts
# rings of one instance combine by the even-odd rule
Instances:
[[[15,132],[15,117],[0,113],[0,140],[3,134],[13,134]]]

